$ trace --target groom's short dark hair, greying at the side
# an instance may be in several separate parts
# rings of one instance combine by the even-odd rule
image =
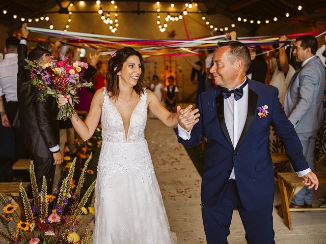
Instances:
[[[234,63],[237,58],[242,59],[244,72],[247,72],[251,63],[250,52],[248,47],[238,41],[218,42],[218,47],[224,46],[230,47],[230,62]]]

